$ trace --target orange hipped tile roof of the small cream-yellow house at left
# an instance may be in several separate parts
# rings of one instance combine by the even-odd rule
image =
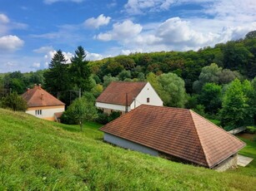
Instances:
[[[41,86],[34,86],[32,90],[26,91],[22,97],[27,101],[28,107],[65,105],[62,101],[44,91]]]

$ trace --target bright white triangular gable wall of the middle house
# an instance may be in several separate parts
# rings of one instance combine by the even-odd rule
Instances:
[[[147,103],[147,98],[149,98],[149,103]],[[143,87],[143,90],[138,94],[136,99],[133,101],[131,105],[131,109],[138,107],[139,105],[156,105],[163,106],[163,101],[158,96],[157,92],[153,90],[153,87],[147,83],[146,86]]]

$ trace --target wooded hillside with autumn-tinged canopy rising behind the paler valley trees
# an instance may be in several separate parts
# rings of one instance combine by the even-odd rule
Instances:
[[[103,81],[103,76],[118,76],[123,71],[131,71],[128,78],[143,78],[149,72],[156,75],[173,72],[185,81],[187,93],[193,92],[193,81],[203,66],[216,63],[223,69],[238,71],[245,78],[256,76],[256,31],[248,32],[244,39],[204,47],[198,51],[160,51],[133,53],[129,56],[116,56],[102,61],[91,61],[93,74]]]

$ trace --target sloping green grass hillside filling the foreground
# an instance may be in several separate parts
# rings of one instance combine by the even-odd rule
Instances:
[[[80,133],[0,109],[0,190],[256,189],[253,174],[218,173],[120,149],[88,125]]]

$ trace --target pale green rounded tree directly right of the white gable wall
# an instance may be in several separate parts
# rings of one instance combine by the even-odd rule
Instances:
[[[185,83],[176,74],[168,73],[158,76],[159,96],[164,105],[184,107],[187,101]]]

